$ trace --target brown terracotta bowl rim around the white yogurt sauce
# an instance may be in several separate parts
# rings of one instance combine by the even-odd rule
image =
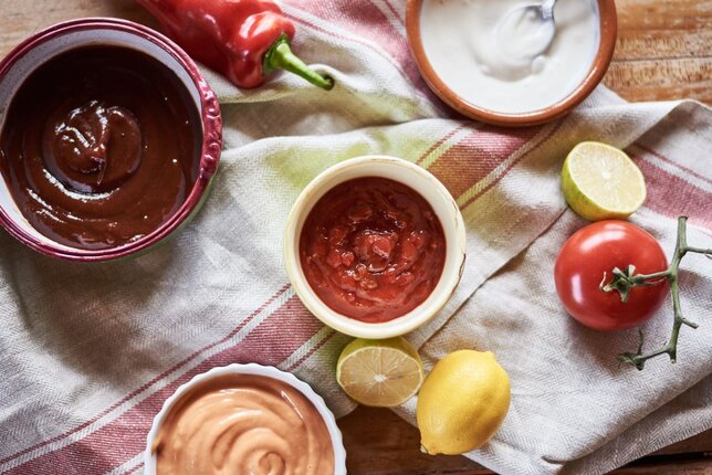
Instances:
[[[438,76],[422,45],[420,34],[420,10],[422,2],[423,0],[408,0],[406,7],[408,44],[410,45],[410,51],[416,60],[420,75],[436,95],[447,105],[465,117],[486,124],[504,127],[535,126],[566,115],[596,88],[598,83],[604,78],[614,56],[618,30],[616,4],[614,0],[596,0],[599,12],[600,42],[596,55],[591,61],[590,68],[580,84],[566,97],[548,107],[516,114],[498,113],[479,107],[460,97]]]

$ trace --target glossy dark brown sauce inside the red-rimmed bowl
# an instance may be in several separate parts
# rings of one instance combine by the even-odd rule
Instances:
[[[0,136],[0,169],[30,224],[62,244],[115,247],[150,233],[197,177],[200,118],[168,67],[87,46],[32,72]]]

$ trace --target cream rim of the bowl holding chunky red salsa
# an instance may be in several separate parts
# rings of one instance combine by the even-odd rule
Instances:
[[[308,214],[312,210],[311,207],[308,209],[306,208],[307,200],[310,200],[314,194],[317,194],[317,193],[321,193],[323,196],[323,193],[325,193],[326,191],[328,191],[328,189],[332,188],[329,187],[326,191],[324,191],[324,187],[327,181],[329,181],[333,177],[338,176],[346,169],[360,167],[363,165],[373,163],[373,162],[381,162],[381,163],[388,163],[389,166],[398,166],[398,167],[401,167],[404,169],[404,172],[406,173],[417,173],[421,178],[426,178],[430,182],[430,184],[436,189],[436,191],[438,192],[438,196],[442,198],[446,205],[453,210],[454,223],[452,224],[452,226],[457,235],[454,242],[446,241],[447,253],[454,253],[456,255],[456,265],[452,267],[454,272],[452,272],[450,275],[446,275],[444,268],[443,268],[443,274],[440,277],[440,282],[444,279],[447,286],[437,296],[437,298],[434,298],[432,302],[428,302],[430,299],[430,296],[429,296],[426,300],[423,300],[419,306],[410,310],[408,314],[405,314],[400,317],[394,318],[388,321],[376,323],[376,324],[365,323],[365,321],[357,320],[355,318],[349,318],[345,315],[342,315],[333,310],[322,302],[322,299],[312,289],[312,286],[306,281],[306,277],[304,276],[304,273],[302,271],[301,260],[299,256],[300,235],[297,232],[299,230],[296,229],[296,224],[300,221],[300,218],[302,215]],[[364,175],[364,177],[366,176],[373,177],[373,176],[378,176],[378,173],[376,172],[376,173]],[[354,177],[354,178],[357,178],[357,177]],[[412,188],[412,186],[409,184],[407,180],[399,180],[394,178],[390,178],[390,179],[395,181],[399,181]],[[415,190],[415,191],[418,192],[418,190]],[[422,198],[426,201],[428,201],[430,205],[432,205],[431,200],[429,200],[427,197],[422,197]],[[433,209],[434,208],[436,207],[433,207]],[[442,217],[439,217],[439,218],[440,218],[441,224],[443,225],[443,229],[447,229],[446,226],[448,224],[442,222]],[[329,327],[343,334],[346,334],[353,337],[358,337],[358,338],[371,338],[371,339],[383,339],[383,338],[390,338],[390,337],[405,335],[430,321],[450,300],[450,297],[452,297],[452,295],[454,294],[460,283],[460,279],[462,277],[462,272],[464,270],[464,262],[465,262],[465,254],[467,254],[465,250],[467,250],[467,234],[465,234],[465,228],[464,228],[464,220],[462,219],[462,213],[458,208],[457,202],[452,198],[452,194],[450,194],[448,189],[444,187],[444,184],[442,184],[440,180],[438,180],[432,173],[430,173],[425,168],[411,161],[405,160],[402,158],[391,157],[387,155],[366,155],[366,156],[350,158],[350,159],[341,161],[338,163],[335,163],[326,168],[320,175],[317,175],[302,190],[299,198],[292,205],[292,210],[290,211],[290,214],[286,221],[286,226],[284,230],[284,242],[283,242],[286,272],[290,277],[290,282],[292,283],[292,287],[294,288],[294,292],[300,297],[304,306],[314,316],[316,316],[316,318],[318,318],[324,324],[328,325]],[[448,258],[449,257],[446,255],[446,264],[448,262],[447,261]],[[438,283],[438,285],[440,285],[440,282]],[[422,306],[425,304],[428,304],[428,308],[423,312]]]

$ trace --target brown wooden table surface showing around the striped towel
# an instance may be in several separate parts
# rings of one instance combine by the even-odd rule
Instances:
[[[616,3],[618,43],[604,83],[629,101],[691,97],[712,105],[712,0]],[[0,56],[32,32],[91,15],[155,24],[132,0],[0,0]],[[341,419],[339,426],[353,474],[491,473],[462,456],[422,455],[418,430],[387,410],[359,408]],[[615,473],[712,474],[712,431]]]

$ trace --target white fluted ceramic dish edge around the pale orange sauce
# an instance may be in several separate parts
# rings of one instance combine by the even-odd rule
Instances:
[[[332,437],[332,446],[334,447],[334,475],[345,475],[346,474],[346,450],[344,448],[344,442],[342,440],[342,432],[336,425],[336,419],[329,409],[326,407],[324,399],[318,395],[314,390],[304,381],[299,380],[294,374],[280,371],[276,368],[261,366],[256,363],[248,365],[230,365],[221,368],[213,368],[208,372],[196,376],[193,379],[182,384],[176,390],[176,392],[164,402],[164,407],[160,412],[154,419],[154,424],[148,432],[148,437],[146,439],[146,451],[144,452],[144,474],[145,475],[155,475],[156,474],[156,454],[151,453],[151,447],[156,435],[158,434],[158,429],[163,423],[168,412],[176,403],[176,401],[182,397],[187,391],[192,388],[205,383],[213,378],[219,378],[230,374],[255,374],[264,376],[268,378],[273,378],[279,381],[282,381],[286,384],[299,390],[302,394],[308,399],[312,404],[316,408],[318,413],[324,419],[328,434]]]

